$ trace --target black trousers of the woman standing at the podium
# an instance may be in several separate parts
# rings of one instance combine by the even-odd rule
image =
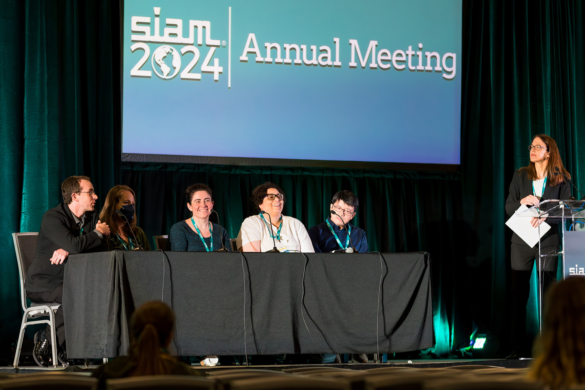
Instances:
[[[546,254],[552,249],[558,249],[558,246],[543,247],[541,252]],[[538,245],[534,248],[526,244],[517,244],[512,242],[512,324],[511,324],[511,347],[512,350],[518,350],[521,353],[531,351],[532,340],[526,340],[526,304],[530,295],[530,277],[532,276],[532,267],[536,259],[536,273],[538,275]],[[542,258],[541,275],[544,292],[556,280],[556,266],[558,257]],[[544,307],[544,302],[543,302]]]

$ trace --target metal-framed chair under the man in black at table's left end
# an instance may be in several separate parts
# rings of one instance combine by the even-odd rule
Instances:
[[[25,337],[25,329],[29,325],[33,324],[49,324],[51,329],[54,329],[54,312],[61,306],[60,303],[56,302],[41,302],[31,303],[30,307],[26,304],[26,275],[29,272],[29,267],[35,259],[37,242],[39,241],[39,233],[37,232],[26,232],[26,233],[12,233],[14,240],[14,249],[16,251],[16,262],[18,262],[18,273],[20,276],[20,303],[22,304],[22,310],[25,313],[22,316],[22,324],[20,324],[20,334],[18,336],[18,343],[16,343],[16,353],[14,355],[14,362],[12,365],[18,367],[18,360],[20,358],[20,350],[22,349],[22,340]],[[49,319],[42,317],[49,317]],[[29,321],[33,320],[33,321]],[[57,367],[57,345],[55,332],[51,332],[51,345],[53,345],[53,367]],[[4,382],[3,382],[4,383]]]

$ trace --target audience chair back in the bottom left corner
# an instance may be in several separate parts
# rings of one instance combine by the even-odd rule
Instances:
[[[97,390],[98,379],[68,374],[18,374],[18,378],[2,379],[0,389],[33,390]]]

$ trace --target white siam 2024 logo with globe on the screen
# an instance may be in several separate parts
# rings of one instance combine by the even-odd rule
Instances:
[[[195,30],[197,30],[197,45],[203,45],[203,32],[205,29],[205,46],[209,47],[205,59],[201,63],[202,73],[212,73],[214,80],[219,80],[219,74],[223,73],[223,67],[219,66],[219,59],[214,59],[215,48],[219,47],[219,39],[211,39],[211,22],[209,20],[189,20],[189,36],[183,37],[183,19],[166,18],[166,27],[163,30],[163,35],[160,35],[160,7],[154,7],[154,26],[151,31],[150,16],[132,16],[131,40],[134,43],[130,46],[132,53],[138,49],[144,50],[142,58],[130,70],[131,77],[152,77],[152,72],[162,78],[163,80],[170,80],[177,76],[181,70],[181,57],[185,53],[192,53],[193,59],[181,71],[180,77],[182,80],[201,80],[201,73],[191,73],[199,62],[201,53],[195,44]],[[143,33],[143,34],[134,34]],[[149,43],[163,43],[163,44],[178,44],[187,45],[177,50],[171,45],[161,45],[153,50],[150,54]],[[226,42],[221,43],[225,47]],[[151,70],[142,69],[150,59]],[[172,59],[171,61],[168,61]],[[211,60],[213,65],[209,63]],[[147,67],[147,66],[146,66]]]

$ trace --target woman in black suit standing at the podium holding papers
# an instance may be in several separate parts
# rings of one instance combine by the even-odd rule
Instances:
[[[510,194],[506,200],[506,213],[511,217],[521,205],[534,206],[547,199],[569,199],[571,194],[566,186],[569,172],[560,159],[559,148],[554,139],[546,134],[538,134],[529,145],[530,163],[518,169],[510,183]],[[558,172],[562,173],[556,173]],[[538,227],[546,218],[531,218],[533,227]],[[550,223],[550,230],[541,238],[541,253],[559,249],[558,223]],[[526,303],[528,303],[530,277],[534,260],[539,261],[538,244],[531,248],[516,233],[512,234],[512,350],[508,358],[530,357],[531,340],[526,338]],[[538,263],[536,265],[538,267]],[[557,256],[542,258],[543,290],[555,280]],[[537,269],[538,272],[538,269]]]

